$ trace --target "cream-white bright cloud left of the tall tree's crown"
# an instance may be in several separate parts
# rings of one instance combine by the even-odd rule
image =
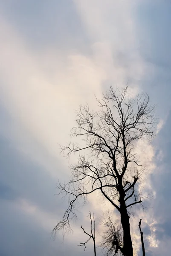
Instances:
[[[6,20],[2,20],[0,32],[3,103],[35,140],[56,156],[58,143],[69,139],[78,104],[98,94],[102,72],[79,54],[64,52],[54,60],[45,52],[37,59]]]

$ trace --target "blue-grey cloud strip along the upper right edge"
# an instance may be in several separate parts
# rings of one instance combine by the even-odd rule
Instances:
[[[170,1],[148,1],[136,9],[136,35],[139,38],[139,52],[151,68],[151,72],[141,81],[157,104],[157,113],[164,117],[168,113],[171,95],[171,23]]]

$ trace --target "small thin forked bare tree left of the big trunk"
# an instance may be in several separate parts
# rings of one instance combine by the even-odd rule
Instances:
[[[84,230],[84,227],[81,226],[81,229],[83,230],[84,234],[86,234],[89,239],[84,242],[84,243],[80,243],[80,246],[84,246],[84,250],[86,250],[86,244],[87,242],[92,239],[93,240],[93,247],[94,247],[94,256],[96,256],[96,240],[95,240],[95,219],[94,219],[94,214],[93,214],[93,220],[92,220],[92,216],[91,216],[91,212],[89,213],[89,215],[87,215],[87,217],[90,216],[90,222],[91,222],[91,234],[87,233]]]

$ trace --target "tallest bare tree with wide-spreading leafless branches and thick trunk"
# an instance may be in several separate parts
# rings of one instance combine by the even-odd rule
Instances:
[[[59,184],[61,192],[69,197],[69,206],[54,231],[70,229],[75,209],[98,191],[120,214],[123,237],[116,253],[133,256],[130,209],[142,204],[138,181],[144,171],[135,148],[138,140],[154,134],[154,106],[149,106],[147,94],[131,98],[128,87],[116,91],[111,87],[97,102],[97,112],[80,107],[72,129],[72,136],[81,137],[83,145],[62,147],[68,156],[78,152],[78,162],[71,167],[71,180]]]

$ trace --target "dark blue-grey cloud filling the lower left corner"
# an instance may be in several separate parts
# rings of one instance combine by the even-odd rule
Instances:
[[[18,208],[22,198],[29,201],[33,207],[38,207],[40,213],[46,212],[49,216],[55,216],[57,221],[57,213],[59,217],[62,216],[67,201],[54,195],[57,193],[58,180],[42,165],[19,151],[8,133],[4,136],[4,129],[8,125],[14,128],[15,123],[3,108],[0,111],[0,119],[3,121],[0,128],[0,255],[85,255],[83,248],[77,247],[78,241],[72,244],[70,236],[64,243],[61,234],[57,234],[55,241],[52,239],[51,231],[56,222],[52,220],[52,224],[47,224],[44,229],[35,218],[35,213],[29,215],[24,209]],[[20,131],[20,127],[18,129]],[[43,151],[35,141],[32,146]],[[56,172],[59,177],[62,176],[63,168],[61,163],[58,163]],[[88,247],[87,253],[90,251]]]

